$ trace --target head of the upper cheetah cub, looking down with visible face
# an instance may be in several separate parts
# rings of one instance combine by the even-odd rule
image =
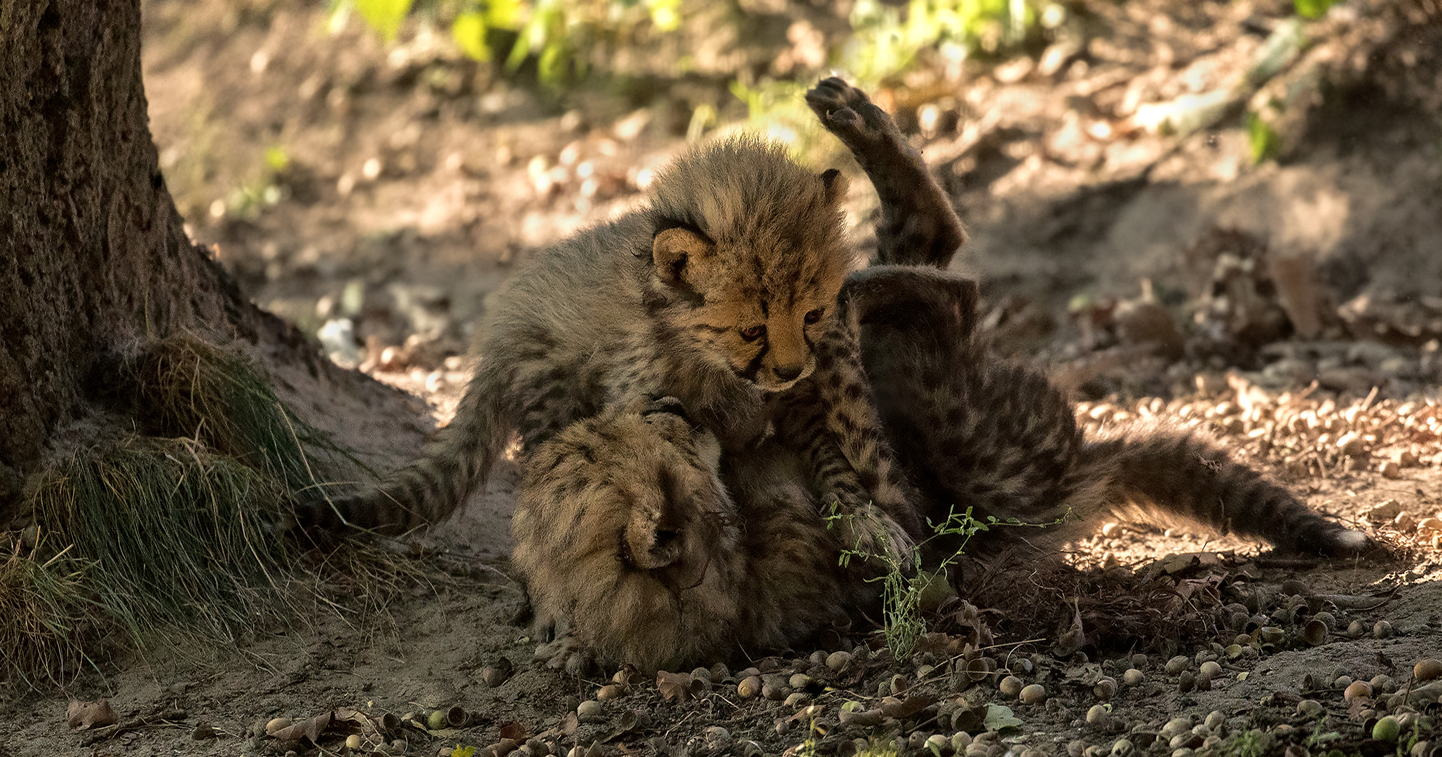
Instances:
[[[813,345],[855,265],[836,170],[725,141],[656,179],[650,306],[681,349],[766,392],[816,366]]]

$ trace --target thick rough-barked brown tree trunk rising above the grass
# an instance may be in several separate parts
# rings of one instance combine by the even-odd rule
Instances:
[[[402,395],[258,310],[187,239],[150,140],[138,0],[0,3],[0,525],[48,454],[104,428],[87,375],[138,339],[186,330],[239,345],[303,417],[346,417],[329,412],[336,402],[349,415],[401,408]],[[415,415],[401,415],[397,448],[415,444]]]

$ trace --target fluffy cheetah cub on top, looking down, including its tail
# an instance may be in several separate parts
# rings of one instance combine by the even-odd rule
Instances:
[[[649,205],[538,255],[503,291],[456,418],[379,487],[303,526],[404,531],[451,513],[513,433],[529,448],[610,407],[678,398],[728,450],[806,379],[854,267],[845,179],[756,138],[676,160]],[[822,441],[829,443],[829,441]]]

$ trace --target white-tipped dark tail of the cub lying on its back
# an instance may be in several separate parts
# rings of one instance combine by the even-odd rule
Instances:
[[[1106,470],[1112,502],[1129,502],[1164,515],[1180,515],[1221,534],[1239,534],[1296,554],[1348,557],[1371,541],[1318,515],[1291,492],[1226,451],[1190,434],[1148,430],[1089,441],[1082,470]],[[1113,508],[1118,515],[1132,515]]]

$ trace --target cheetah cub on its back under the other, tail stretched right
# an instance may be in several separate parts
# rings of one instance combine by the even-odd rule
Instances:
[[[1144,428],[1083,438],[1045,376],[978,343],[975,304],[972,281],[895,265],[852,274],[838,303],[838,317],[861,327],[867,397],[924,495],[919,515],[942,522],[973,508],[976,518],[1060,521],[994,528],[970,539],[969,555],[1054,555],[1099,518],[1138,505],[1144,516],[1181,516],[1283,551],[1368,546],[1200,437]],[[787,450],[721,454],[676,415],[613,410],[528,460],[513,561],[541,624],[568,627],[607,662],[684,669],[737,646],[802,643],[877,603],[868,562],[838,567],[851,545],[818,509]]]

